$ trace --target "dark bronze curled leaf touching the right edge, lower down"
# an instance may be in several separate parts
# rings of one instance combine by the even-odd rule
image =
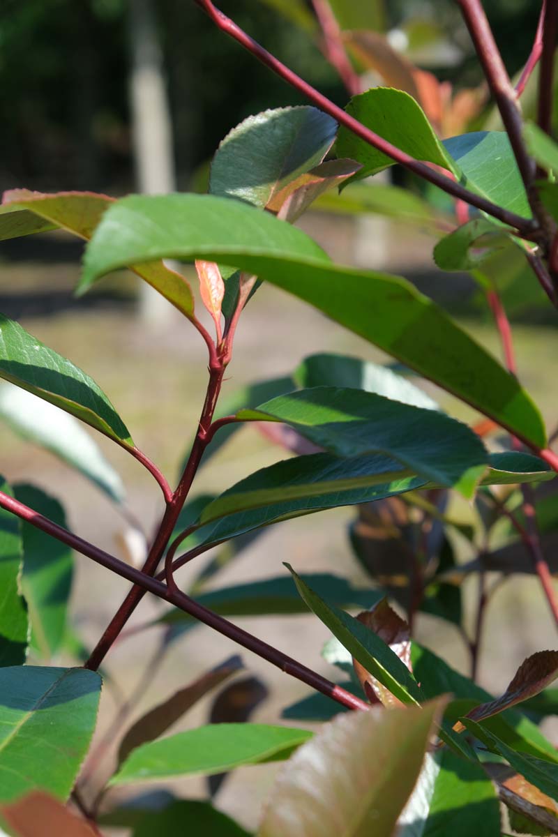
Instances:
[[[472,721],[482,721],[498,712],[538,695],[558,677],[558,651],[537,651],[521,663],[517,674],[501,697],[475,706],[467,713]]]

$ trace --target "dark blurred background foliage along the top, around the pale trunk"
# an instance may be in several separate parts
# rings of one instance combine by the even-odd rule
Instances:
[[[221,8],[286,64],[340,104],[346,93],[312,33],[281,13],[289,0],[222,0]],[[484,3],[511,74],[536,27],[531,0]],[[291,4],[291,13],[294,4]],[[457,88],[481,81],[453,0],[376,3],[377,20],[412,60]],[[3,0],[0,4],[0,187],[134,187],[126,0]],[[310,8],[310,5],[309,5]],[[191,0],[153,4],[169,96],[177,184],[244,116],[301,103],[295,91],[232,40],[219,37]],[[437,33],[439,42],[437,43]]]

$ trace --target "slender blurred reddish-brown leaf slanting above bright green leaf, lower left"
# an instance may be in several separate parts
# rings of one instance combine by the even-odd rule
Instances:
[[[223,683],[228,677],[233,675],[236,671],[242,668],[242,661],[239,657],[231,657],[217,668],[207,671],[206,674],[194,680],[184,689],[177,691],[168,700],[155,706],[146,715],[136,721],[126,732],[125,737],[120,743],[118,751],[119,765],[125,761],[125,758],[132,750],[145,744],[148,741],[154,741],[166,732],[172,724],[176,723],[185,712],[187,712],[197,701],[203,696],[207,695],[215,686]]]

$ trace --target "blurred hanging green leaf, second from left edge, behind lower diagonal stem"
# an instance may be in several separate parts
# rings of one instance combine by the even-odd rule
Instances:
[[[68,528],[64,509],[34,485],[14,485],[16,499],[33,511]],[[27,521],[22,523],[22,589],[31,619],[31,641],[39,657],[49,660],[64,643],[69,594],[74,574],[70,547]]]

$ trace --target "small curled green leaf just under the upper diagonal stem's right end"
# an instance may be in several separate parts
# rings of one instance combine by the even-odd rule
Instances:
[[[509,235],[488,218],[475,218],[438,241],[434,261],[440,270],[475,270],[494,255],[494,249],[503,249],[510,241]]]

